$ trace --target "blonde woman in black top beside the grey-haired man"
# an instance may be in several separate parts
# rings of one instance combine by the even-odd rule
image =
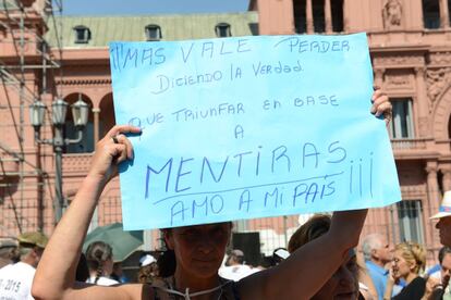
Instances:
[[[419,276],[426,265],[426,250],[416,242],[401,242],[394,247],[390,276],[383,299],[419,300],[426,292],[426,280]],[[393,286],[401,278],[406,286],[392,297]]]

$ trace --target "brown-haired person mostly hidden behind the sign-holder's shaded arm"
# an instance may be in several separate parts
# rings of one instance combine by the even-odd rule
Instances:
[[[293,253],[304,245],[324,236],[330,229],[331,217],[327,214],[315,214],[291,236],[289,252]],[[320,261],[317,262],[318,264]],[[350,249],[342,264],[312,297],[312,300],[322,299],[374,299],[368,288],[359,287],[358,264],[354,249]],[[366,297],[364,296],[366,295]]]

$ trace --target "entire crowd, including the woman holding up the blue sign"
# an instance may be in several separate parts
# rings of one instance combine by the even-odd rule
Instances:
[[[391,112],[382,91],[371,101],[377,116]],[[390,245],[378,234],[361,239],[367,210],[355,210],[313,216],[267,268],[246,265],[239,249],[224,263],[231,222],[164,228],[166,250],[158,258],[145,254],[135,283],[124,284],[114,274],[114,249],[101,241],[86,253],[81,249],[102,189],[118,164],[133,159],[126,135],[138,133],[114,126],[98,142],[89,173],[49,240],[40,233],[19,236],[11,262],[0,268],[0,299],[450,299],[451,191],[434,216],[444,246],[435,272],[425,272],[418,243]]]

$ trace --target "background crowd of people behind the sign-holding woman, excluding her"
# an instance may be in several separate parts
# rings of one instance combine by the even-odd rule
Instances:
[[[451,200],[451,191],[446,193],[443,201]],[[450,245],[451,240],[442,224],[451,218],[450,213],[440,213],[437,228],[440,230],[441,241]],[[290,255],[297,249],[326,235],[332,225],[332,217],[328,214],[316,214],[303,224],[290,238],[288,249],[278,248],[273,251],[271,265],[253,266],[246,264],[246,255],[240,249],[227,253],[222,265],[218,270],[222,285],[229,282],[240,283],[243,278],[253,276],[266,268],[277,268],[278,265],[289,263]],[[17,238],[19,247],[10,248],[9,263],[0,268],[0,299],[33,299],[32,284],[36,267],[39,264],[48,238],[41,233],[27,233]],[[176,292],[175,282],[168,286],[167,273],[171,250],[156,255],[144,253],[139,259],[139,270],[135,278],[124,280],[121,274],[114,272],[112,255],[113,249],[106,242],[90,243],[85,253],[81,253],[76,265],[75,282],[97,286],[120,286],[123,283],[138,283],[153,286],[160,290]],[[160,254],[158,254],[160,253]],[[426,270],[425,248],[416,242],[401,242],[390,245],[380,234],[369,234],[362,238],[359,248],[350,248],[342,258],[341,264],[322,286],[309,299],[451,299],[449,279],[451,275],[451,247],[443,246],[438,254],[438,264]],[[176,260],[175,260],[176,261]],[[288,261],[288,262],[285,262]],[[121,278],[122,277],[122,278]],[[223,278],[223,279],[222,279]],[[87,287],[89,285],[86,285]],[[224,290],[222,290],[224,292]],[[239,290],[231,291],[239,295]],[[158,295],[158,291],[156,291]],[[173,293],[168,299],[196,299],[195,295]],[[187,296],[187,297],[186,297]],[[49,297],[51,298],[51,297]],[[48,297],[42,297],[48,299]],[[164,298],[156,298],[164,299]],[[200,299],[200,298],[198,298]],[[209,298],[206,298],[209,299]],[[216,298],[214,298],[216,299]],[[229,299],[227,297],[218,299]],[[230,299],[236,299],[230,298]],[[289,299],[289,298],[287,298]],[[302,291],[296,298],[307,299]]]

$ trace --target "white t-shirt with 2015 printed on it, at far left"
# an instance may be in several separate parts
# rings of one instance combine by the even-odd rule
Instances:
[[[17,262],[0,268],[0,300],[29,300],[36,270],[27,263]]]

